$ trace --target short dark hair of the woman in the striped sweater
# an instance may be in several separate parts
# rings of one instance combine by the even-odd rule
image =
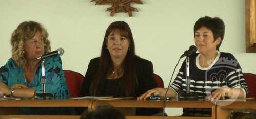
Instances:
[[[211,18],[209,16],[199,18],[198,21],[196,21],[194,24],[194,35],[196,30],[200,29],[201,27],[206,27],[212,31],[214,36],[214,41],[218,37],[221,38],[221,42],[217,46],[217,50],[219,51],[219,48],[221,46],[222,40],[224,38],[224,33],[225,33],[225,24],[223,20],[220,19],[219,17]]]

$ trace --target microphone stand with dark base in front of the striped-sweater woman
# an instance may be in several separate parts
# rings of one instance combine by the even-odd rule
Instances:
[[[196,93],[190,93],[190,78],[189,78],[189,57],[186,56],[186,93],[178,96],[179,100],[197,100],[198,95]]]

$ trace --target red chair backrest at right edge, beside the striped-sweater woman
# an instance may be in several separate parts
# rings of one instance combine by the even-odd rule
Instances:
[[[256,97],[256,74],[243,73],[243,75],[249,89],[248,97]]]

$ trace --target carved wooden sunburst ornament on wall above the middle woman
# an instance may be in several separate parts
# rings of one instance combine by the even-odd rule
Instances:
[[[91,0],[91,2],[96,2],[95,5],[111,4],[112,6],[106,10],[110,11],[110,16],[119,12],[126,12],[129,16],[132,16],[132,11],[138,12],[139,10],[131,7],[131,3],[143,4],[141,0]]]

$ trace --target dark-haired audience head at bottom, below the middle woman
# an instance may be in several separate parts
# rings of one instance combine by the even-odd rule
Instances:
[[[83,113],[80,119],[125,119],[125,115],[110,105],[102,105],[95,111]]]

